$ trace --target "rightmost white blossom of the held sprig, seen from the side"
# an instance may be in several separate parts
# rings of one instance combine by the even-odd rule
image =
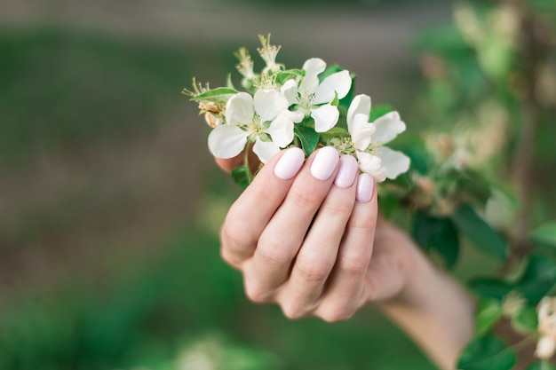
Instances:
[[[347,130],[352,136],[359,168],[377,182],[386,177],[396,178],[409,169],[409,157],[384,145],[405,130],[405,123],[398,112],[385,114],[371,123],[369,113],[370,97],[363,94],[353,98],[347,111]]]

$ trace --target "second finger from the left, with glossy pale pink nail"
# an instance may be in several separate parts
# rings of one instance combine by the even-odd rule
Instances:
[[[329,193],[338,166],[338,151],[325,146],[306,161],[290,192],[258,240],[253,258],[243,265],[251,299],[266,299],[286,280],[317,209]]]

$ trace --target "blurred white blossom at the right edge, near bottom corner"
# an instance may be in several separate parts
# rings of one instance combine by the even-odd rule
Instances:
[[[537,330],[541,338],[536,343],[536,357],[552,358],[556,352],[556,297],[545,296],[538,304]]]

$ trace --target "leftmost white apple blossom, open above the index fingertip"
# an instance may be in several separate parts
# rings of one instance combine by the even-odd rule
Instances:
[[[217,158],[233,158],[249,140],[255,142],[253,152],[266,163],[290,145],[293,124],[301,119],[288,111],[288,100],[279,91],[259,90],[254,97],[239,92],[226,103],[226,124],[210,132],[210,152]]]

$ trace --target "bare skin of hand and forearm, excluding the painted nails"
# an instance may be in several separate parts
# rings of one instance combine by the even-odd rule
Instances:
[[[290,319],[349,319],[373,303],[441,369],[455,369],[473,337],[473,299],[434,266],[409,236],[382,219],[376,188],[356,200],[353,185],[311,176],[312,154],[295,177],[274,175],[274,156],[229,209],[221,256],[242,272],[255,303],[278,304]],[[242,154],[217,159],[229,171]],[[307,189],[311,189],[307,192]]]

